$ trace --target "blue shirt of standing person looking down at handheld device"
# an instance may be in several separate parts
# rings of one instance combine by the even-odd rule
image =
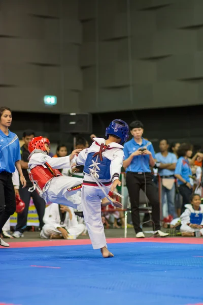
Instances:
[[[143,139],[143,138],[142,138]],[[142,144],[138,144],[132,138],[130,141],[124,144],[124,160],[129,158],[129,156],[134,153],[134,151],[138,150],[139,148],[147,148],[152,153],[152,157],[155,159],[155,153],[153,145],[150,141],[143,139]],[[151,172],[150,165],[149,165],[149,155],[143,156],[134,156],[130,165],[126,168],[126,172]]]

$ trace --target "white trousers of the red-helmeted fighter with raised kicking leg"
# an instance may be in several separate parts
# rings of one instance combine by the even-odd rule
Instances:
[[[78,211],[81,208],[81,191],[72,188],[81,185],[83,179],[67,176],[55,177],[50,181],[49,188],[45,192],[46,201],[68,205]]]

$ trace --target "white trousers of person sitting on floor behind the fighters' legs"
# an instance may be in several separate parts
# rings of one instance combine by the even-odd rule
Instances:
[[[86,228],[85,228],[84,224],[78,224],[78,225],[75,225],[71,228],[65,227],[65,229],[67,230],[67,232],[69,232],[70,235],[75,235],[76,237],[78,237],[83,232],[86,232]],[[51,224],[50,225],[49,224],[44,225],[41,232],[40,232],[40,237],[41,238],[49,238],[51,236],[51,234],[58,235],[58,234],[61,234],[61,232],[58,231]]]

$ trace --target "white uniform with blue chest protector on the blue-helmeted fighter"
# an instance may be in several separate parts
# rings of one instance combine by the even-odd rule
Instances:
[[[105,142],[105,139],[94,138],[92,145],[76,158],[77,165],[84,165],[82,210],[93,249],[107,247],[100,200],[107,197],[112,179],[119,178],[124,157],[122,145],[111,143],[107,148]],[[99,151],[100,156],[94,156]]]

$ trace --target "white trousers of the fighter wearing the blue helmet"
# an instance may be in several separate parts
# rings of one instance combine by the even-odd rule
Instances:
[[[106,187],[108,194],[110,187]],[[93,249],[107,247],[104,225],[101,221],[101,202],[105,197],[99,187],[84,186],[82,188],[82,210]]]

